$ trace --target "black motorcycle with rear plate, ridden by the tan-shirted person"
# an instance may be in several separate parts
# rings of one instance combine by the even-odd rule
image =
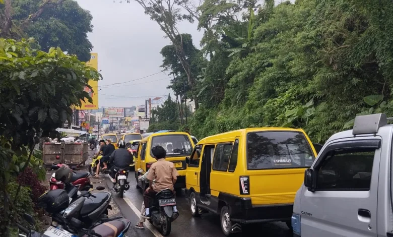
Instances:
[[[151,219],[149,221],[160,229],[164,236],[170,234],[172,222],[179,217],[179,213],[173,211],[174,206],[176,206],[176,200],[172,190],[164,189],[157,193],[150,207]]]

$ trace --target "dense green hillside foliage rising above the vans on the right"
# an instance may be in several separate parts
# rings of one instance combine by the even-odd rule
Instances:
[[[388,0],[203,2],[193,11],[208,62],[195,68],[200,80],[190,93],[200,108],[190,133],[295,127],[324,142],[350,129],[356,114],[393,114],[391,9]]]

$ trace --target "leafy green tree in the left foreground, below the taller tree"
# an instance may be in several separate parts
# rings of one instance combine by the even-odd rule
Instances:
[[[23,171],[30,162],[34,145],[41,136],[54,137],[55,129],[71,122],[72,105],[91,98],[84,87],[100,74],[60,48],[48,52],[34,48],[34,40],[0,39],[0,163],[4,215],[2,236],[8,236],[9,214],[14,212],[15,197],[8,194],[11,168],[18,156],[25,157]],[[27,147],[27,148],[26,148]],[[19,167],[17,168],[19,169]],[[10,205],[10,203],[11,204]],[[14,213],[14,217],[16,217]],[[13,222],[15,223],[15,222]]]

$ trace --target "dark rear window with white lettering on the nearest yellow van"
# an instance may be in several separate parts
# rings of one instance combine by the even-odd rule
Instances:
[[[310,167],[315,157],[307,139],[299,132],[255,132],[247,134],[247,168]]]

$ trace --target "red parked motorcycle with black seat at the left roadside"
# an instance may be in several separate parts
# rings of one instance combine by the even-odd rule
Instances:
[[[66,164],[57,164],[58,167],[62,165],[68,166]],[[54,177],[55,173],[49,179],[50,190],[54,189],[64,189],[64,183],[61,181],[57,181]],[[75,172],[73,171],[73,177],[71,178],[71,183],[78,188],[79,191],[89,191],[93,188],[93,185],[90,183],[90,173],[89,172]]]

